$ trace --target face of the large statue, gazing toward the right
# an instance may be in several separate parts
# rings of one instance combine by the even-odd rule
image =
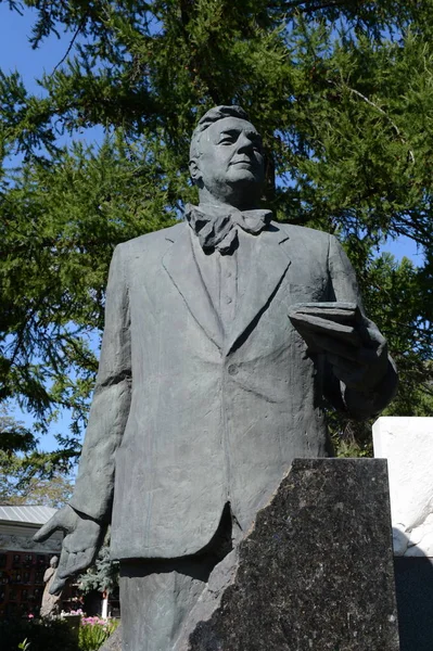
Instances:
[[[200,149],[198,178],[215,199],[238,205],[259,197],[265,176],[262,138],[251,123],[219,119],[203,132]]]

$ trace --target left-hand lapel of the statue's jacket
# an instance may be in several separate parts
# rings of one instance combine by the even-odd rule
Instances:
[[[184,225],[183,229],[179,229],[176,240],[169,240],[171,245],[163,257],[163,267],[195,321],[208,339],[221,349],[222,328],[196,264],[190,231],[190,227]]]

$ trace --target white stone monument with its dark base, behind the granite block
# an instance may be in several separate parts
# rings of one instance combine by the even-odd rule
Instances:
[[[433,649],[433,418],[380,418],[387,459],[402,651]]]

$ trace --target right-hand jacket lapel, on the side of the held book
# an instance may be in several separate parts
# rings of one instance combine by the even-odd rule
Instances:
[[[275,222],[255,237],[249,269],[239,275],[239,307],[225,342],[225,355],[242,345],[281,285],[291,264],[288,241],[288,234]]]

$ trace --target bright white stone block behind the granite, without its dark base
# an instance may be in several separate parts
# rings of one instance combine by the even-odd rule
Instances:
[[[373,446],[389,464],[394,556],[433,559],[433,418],[379,418]]]

